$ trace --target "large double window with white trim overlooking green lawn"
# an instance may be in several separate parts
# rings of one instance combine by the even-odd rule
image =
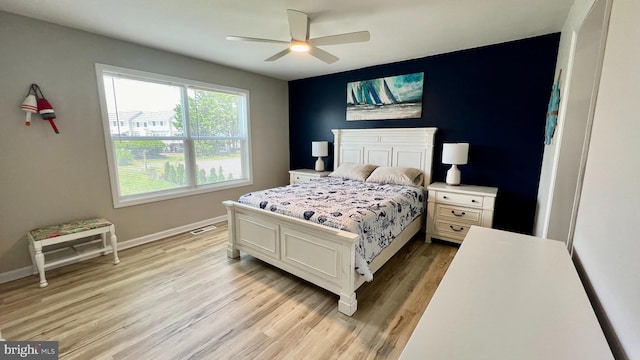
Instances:
[[[248,91],[102,64],[96,73],[114,207],[251,184]]]

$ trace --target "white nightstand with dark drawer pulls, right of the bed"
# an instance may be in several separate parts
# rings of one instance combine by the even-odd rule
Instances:
[[[490,228],[498,188],[433,183],[427,186],[427,242],[461,244],[471,225]]]

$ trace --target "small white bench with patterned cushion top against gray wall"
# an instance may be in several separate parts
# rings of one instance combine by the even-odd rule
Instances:
[[[93,237],[100,235],[100,240],[91,241],[88,243],[78,243],[76,240]],[[107,245],[107,235],[109,235],[110,245]],[[102,253],[102,255],[113,252],[113,263],[118,264],[120,259],[118,258],[118,245],[115,226],[109,221],[102,218],[90,218],[72,221],[64,224],[49,225],[33,229],[27,233],[27,239],[29,240],[29,253],[31,254],[31,261],[33,263],[33,273],[40,274],[40,287],[48,285],[45,277],[45,270],[55,266],[59,266],[64,263],[69,263],[74,260],[80,260],[87,258],[96,253]],[[97,241],[101,241],[101,246],[98,248],[91,248],[82,245],[94,244]],[[60,259],[53,260],[45,257],[45,254],[53,254],[59,252],[60,249],[55,249],[51,252],[43,251],[43,248],[47,246],[68,243],[69,248],[73,250],[72,255],[64,256]]]

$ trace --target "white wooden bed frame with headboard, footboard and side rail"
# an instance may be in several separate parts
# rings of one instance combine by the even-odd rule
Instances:
[[[436,128],[342,129],[334,134],[334,167],[342,163],[404,166],[421,169],[431,183]],[[425,200],[426,203],[426,200]],[[356,289],[364,277],[355,271],[358,235],[271,211],[225,201],[229,223],[227,256],[240,251],[303,278],[340,296],[338,310],[357,309]],[[414,220],[370,264],[375,273],[418,231],[425,216]]]

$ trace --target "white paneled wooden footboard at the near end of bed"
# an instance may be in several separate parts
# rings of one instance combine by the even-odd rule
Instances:
[[[340,296],[338,310],[357,309],[355,244],[359,236],[270,211],[225,201],[227,256],[240,251]]]

